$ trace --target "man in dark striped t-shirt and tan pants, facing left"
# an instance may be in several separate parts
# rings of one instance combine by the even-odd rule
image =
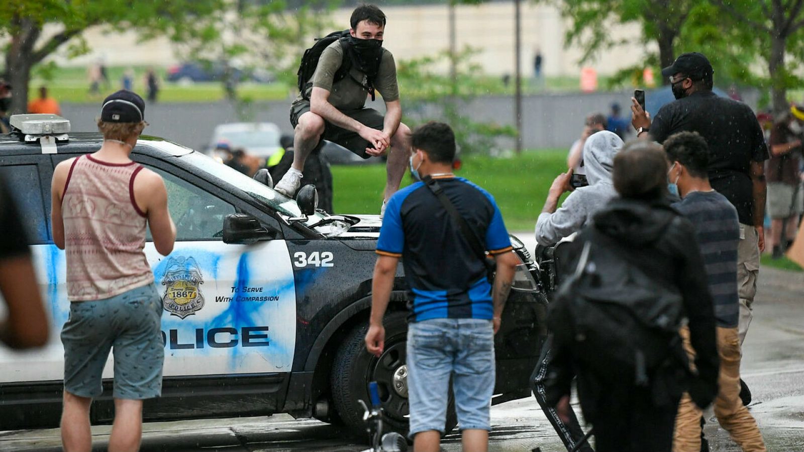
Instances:
[[[715,306],[717,349],[720,355],[720,386],[715,399],[715,416],[720,426],[745,452],[765,452],[757,421],[740,400],[740,337],[737,330],[740,301],[737,298],[737,246],[740,222],[737,211],[724,195],[712,189],[707,175],[709,153],[706,140],[695,132],[679,132],[664,142],[672,162],[667,179],[679,187],[682,201],[675,203],[687,217],[698,237],[704,257],[709,291]],[[684,348],[695,356],[689,329],[681,330]],[[708,450],[701,438],[701,410],[684,394],[675,418],[675,452]],[[704,448],[701,447],[702,441]]]

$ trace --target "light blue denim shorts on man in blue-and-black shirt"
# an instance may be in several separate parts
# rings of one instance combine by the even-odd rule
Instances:
[[[494,328],[478,318],[433,318],[408,326],[410,437],[444,433],[449,377],[461,430],[490,430]]]

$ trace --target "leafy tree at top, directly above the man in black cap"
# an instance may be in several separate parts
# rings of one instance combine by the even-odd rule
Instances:
[[[684,23],[699,2],[693,0],[542,0],[558,6],[564,18],[572,20],[567,31],[568,45],[576,43],[584,49],[582,60],[622,42],[613,39],[615,23],[639,23],[642,43],[655,42],[656,55],[646,55],[647,63],[664,68],[675,60],[675,43]],[[662,83],[668,80],[662,78]]]

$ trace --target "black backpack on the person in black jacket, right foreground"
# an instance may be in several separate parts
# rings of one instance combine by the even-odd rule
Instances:
[[[630,261],[623,244],[594,228],[587,232],[575,273],[551,303],[548,325],[579,368],[647,386],[651,371],[683,355],[681,294]]]

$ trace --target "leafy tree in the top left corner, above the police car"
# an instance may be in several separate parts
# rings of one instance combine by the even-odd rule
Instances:
[[[88,27],[108,25],[135,29],[144,39],[168,35],[174,41],[195,35],[199,18],[219,10],[224,0],[14,0],[0,8],[0,38],[10,38],[3,78],[14,86],[11,113],[27,109],[31,69],[67,43],[72,53],[85,51],[81,33]],[[47,24],[60,30],[43,36]]]

